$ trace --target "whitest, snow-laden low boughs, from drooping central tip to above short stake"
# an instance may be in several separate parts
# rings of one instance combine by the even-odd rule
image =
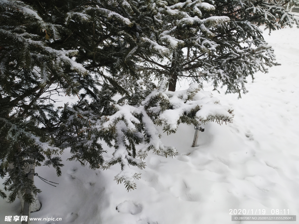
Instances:
[[[202,91],[197,84],[187,90],[171,92],[165,91],[167,85],[164,79],[157,89],[149,92],[142,88],[142,83],[143,80],[138,80],[138,88],[132,95],[111,105],[115,111],[112,115],[100,116],[96,120],[88,113],[85,118],[82,117],[93,118],[92,124],[82,131],[95,129],[114,136],[115,151],[111,159],[102,163],[102,168],[119,163],[121,171],[115,179],[118,183],[124,182],[128,191],[136,188],[135,179],[140,177],[140,172],[132,166],[144,168],[142,159],[147,157],[149,151],[166,157],[177,154],[174,147],[163,145],[157,125],[163,126],[164,132],[170,134],[176,132],[180,123],[232,122],[234,116],[230,107],[220,105],[218,99]],[[131,104],[137,95],[143,100],[137,105]],[[139,150],[135,145],[140,145]]]

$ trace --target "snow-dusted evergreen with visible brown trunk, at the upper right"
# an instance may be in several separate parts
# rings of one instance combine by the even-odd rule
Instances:
[[[213,82],[226,93],[239,93],[246,77],[257,71],[268,72],[275,62],[274,50],[263,39],[263,31],[292,27],[298,19],[283,5],[298,1],[216,0],[167,1],[160,9],[161,24],[152,33],[151,42],[163,49],[164,57],[145,58],[140,70],[156,77],[169,77],[169,89],[175,91],[179,78],[191,82]]]

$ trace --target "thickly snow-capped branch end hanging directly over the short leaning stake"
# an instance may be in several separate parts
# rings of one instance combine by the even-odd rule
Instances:
[[[175,92],[154,90],[142,103],[148,112],[156,114],[154,122],[164,125],[167,133],[175,132],[184,116],[192,117],[193,123],[214,120],[231,122],[231,109],[219,105],[218,99],[202,94],[199,85],[193,84],[187,90]],[[150,106],[153,99],[157,102]]]

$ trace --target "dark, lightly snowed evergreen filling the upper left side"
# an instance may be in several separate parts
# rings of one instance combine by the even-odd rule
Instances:
[[[57,155],[63,147],[55,145],[62,116],[61,108],[54,108],[54,97],[79,96],[82,91],[98,98],[98,74],[101,81],[114,83],[118,92],[126,92],[113,81],[113,74],[131,69],[129,63],[120,63],[129,48],[120,41],[122,27],[130,29],[131,22],[110,11],[111,4],[101,8],[99,3],[0,1],[0,175],[3,178],[13,164],[4,182],[5,190],[11,191],[10,201],[20,191],[24,200],[32,202],[25,190],[39,192],[26,177],[27,165],[45,162],[61,175]],[[97,62],[102,64],[94,66]],[[109,77],[101,71],[103,66],[110,70]]]

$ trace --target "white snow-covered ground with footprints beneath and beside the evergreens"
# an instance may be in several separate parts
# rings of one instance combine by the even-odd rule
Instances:
[[[31,217],[62,221],[31,223],[240,223],[231,221],[230,209],[246,209],[249,215],[263,209],[266,215],[272,209],[286,209],[287,214],[289,209],[290,215],[299,215],[299,29],[285,28],[271,36],[266,31],[265,39],[282,65],[257,73],[242,99],[213,92],[222,105],[234,109],[233,123],[208,123],[195,148],[193,126],[180,125],[176,134],[163,134],[162,141],[175,146],[178,156],[149,154],[134,191],[113,180],[119,165],[94,171],[65,161],[62,177],[53,168],[38,167],[41,177],[59,185],[35,178],[42,208]],[[21,215],[19,200],[0,200],[0,208],[1,224],[7,223],[4,216]]]

